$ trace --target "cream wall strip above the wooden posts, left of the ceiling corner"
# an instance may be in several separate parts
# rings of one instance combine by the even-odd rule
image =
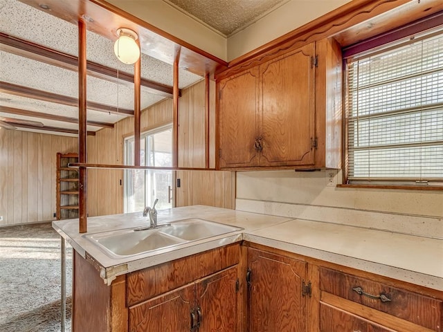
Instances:
[[[226,37],[215,33],[199,21],[188,17],[161,0],[107,0],[174,37],[226,60]]]

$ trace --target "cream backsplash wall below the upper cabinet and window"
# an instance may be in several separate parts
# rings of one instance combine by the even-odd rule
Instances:
[[[329,169],[237,172],[235,209],[443,239],[443,192],[337,188],[337,179]]]

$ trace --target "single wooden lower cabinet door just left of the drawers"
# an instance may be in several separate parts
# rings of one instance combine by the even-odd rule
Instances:
[[[302,279],[307,264],[289,257],[248,249],[251,286],[248,293],[249,331],[307,330]]]

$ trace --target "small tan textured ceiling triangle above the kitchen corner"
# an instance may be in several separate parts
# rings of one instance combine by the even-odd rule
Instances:
[[[249,24],[282,6],[289,0],[163,0],[225,36],[246,28]]]

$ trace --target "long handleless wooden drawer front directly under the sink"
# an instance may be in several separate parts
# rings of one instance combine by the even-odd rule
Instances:
[[[129,273],[126,304],[133,306],[238,264],[239,257],[240,247],[236,243]]]

